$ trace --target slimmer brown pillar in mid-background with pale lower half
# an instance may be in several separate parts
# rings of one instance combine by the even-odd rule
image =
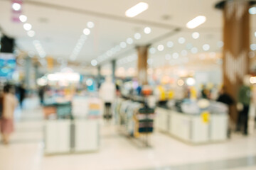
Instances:
[[[138,62],[137,62],[137,70],[138,70],[138,81],[141,85],[148,84],[147,81],[147,57],[148,57],[148,48],[149,46],[139,46],[137,47],[138,53]]]

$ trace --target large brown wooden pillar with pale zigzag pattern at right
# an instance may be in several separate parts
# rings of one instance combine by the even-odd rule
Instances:
[[[216,8],[223,10],[223,85],[235,101],[243,78],[250,72],[250,5],[254,1],[220,1]],[[231,118],[237,120],[235,106]]]

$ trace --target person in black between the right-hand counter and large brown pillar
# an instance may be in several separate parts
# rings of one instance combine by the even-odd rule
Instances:
[[[231,135],[231,128],[232,128],[232,123],[231,123],[231,106],[235,103],[234,99],[232,96],[230,96],[226,89],[225,86],[220,90],[220,96],[218,96],[217,99],[218,102],[225,103],[228,106],[228,115],[229,115],[229,121],[228,121],[228,137],[230,138]]]

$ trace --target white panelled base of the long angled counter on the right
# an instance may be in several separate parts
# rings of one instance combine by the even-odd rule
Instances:
[[[156,108],[155,128],[191,144],[221,142],[227,140],[228,115],[210,114],[206,123],[201,115]]]

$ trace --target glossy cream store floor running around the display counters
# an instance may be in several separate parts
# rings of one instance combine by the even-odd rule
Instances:
[[[231,140],[210,145],[186,145],[154,132],[151,147],[139,147],[120,135],[114,125],[102,123],[98,152],[43,154],[43,111],[38,101],[27,99],[16,111],[16,131],[10,145],[0,144],[1,170],[252,170],[256,169],[256,133],[233,135]]]

